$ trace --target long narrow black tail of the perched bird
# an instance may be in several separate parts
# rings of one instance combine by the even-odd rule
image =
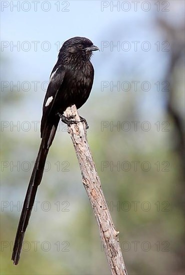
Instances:
[[[59,118],[58,118],[58,121],[59,121]],[[41,139],[40,147],[38,150],[36,161],[33,167],[33,171],[32,171],[27,192],[25,195],[22,212],[18,223],[18,228],[16,231],[13,252],[11,256],[11,259],[13,260],[14,264],[17,264],[20,258],[20,252],[21,252],[24,233],[31,214],[31,209],[34,203],[36,190],[42,178],[43,169],[44,169],[47,153],[49,150],[49,146],[51,145],[56,132],[57,124],[58,122],[56,123],[56,125],[50,125],[50,126],[48,125],[47,128],[45,129],[45,134]]]

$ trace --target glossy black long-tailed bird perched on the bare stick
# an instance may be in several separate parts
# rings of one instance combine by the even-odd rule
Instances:
[[[60,116],[75,104],[80,108],[87,100],[93,83],[94,69],[90,62],[93,50],[98,47],[85,37],[73,37],[65,41],[50,74],[42,107],[40,126],[41,143],[25,195],[16,232],[11,259],[17,264],[24,233],[29,221],[36,190],[40,184],[46,156],[54,138]]]

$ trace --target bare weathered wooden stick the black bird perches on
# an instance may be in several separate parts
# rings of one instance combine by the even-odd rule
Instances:
[[[64,115],[69,117],[75,115],[75,120],[79,121],[75,105],[68,107]],[[68,126],[68,133],[71,136],[79,166],[82,174],[82,183],[89,197],[97,224],[99,227],[101,242],[104,246],[106,258],[113,275],[127,275],[121,249],[110,212],[108,210],[100,179],[98,177],[92,155],[88,146],[85,123],[79,122]]]

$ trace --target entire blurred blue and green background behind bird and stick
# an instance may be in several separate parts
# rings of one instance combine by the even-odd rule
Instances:
[[[79,110],[128,274],[184,274],[184,1],[1,4],[1,274],[110,274],[66,126],[10,258],[62,42],[97,45]]]

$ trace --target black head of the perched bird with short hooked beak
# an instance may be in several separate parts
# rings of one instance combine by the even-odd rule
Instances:
[[[90,60],[90,56],[94,50],[99,50],[99,48],[94,46],[88,38],[76,36],[63,43],[58,53],[58,57],[67,55],[68,57],[81,57],[84,60]]]

